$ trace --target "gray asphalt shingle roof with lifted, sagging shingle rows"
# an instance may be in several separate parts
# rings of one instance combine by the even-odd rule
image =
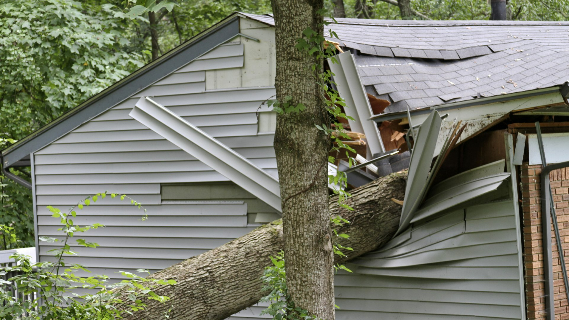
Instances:
[[[386,113],[569,80],[569,22],[336,20],[328,28],[356,55],[366,91],[392,102]]]

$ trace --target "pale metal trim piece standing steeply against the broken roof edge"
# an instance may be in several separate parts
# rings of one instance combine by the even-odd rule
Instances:
[[[347,51],[335,57],[337,63],[332,63],[329,60],[328,64],[334,73],[334,81],[337,84],[338,93],[345,100],[347,108],[344,111],[355,120],[348,120],[350,128],[354,132],[365,134],[365,139],[372,155],[385,152],[377,125],[370,120],[370,117],[373,116],[372,106],[369,104],[364,85],[361,83],[360,76],[357,73],[356,61],[353,55]]]

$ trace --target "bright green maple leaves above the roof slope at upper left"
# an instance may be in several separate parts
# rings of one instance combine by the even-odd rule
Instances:
[[[0,137],[19,139],[142,66],[116,6],[6,0],[0,6]]]

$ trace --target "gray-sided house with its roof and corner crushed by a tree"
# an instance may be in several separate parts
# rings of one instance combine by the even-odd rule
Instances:
[[[569,23],[338,22],[345,52],[329,68],[365,134],[361,162],[412,153],[351,175],[357,186],[409,166],[397,235],[336,276],[337,318],[567,317]],[[101,247],[68,258],[120,280],[277,219],[275,114],[262,103],[275,61],[273,18],[235,13],[2,150],[4,168],[31,166],[36,237],[58,235],[47,205],[128,194],[150,220],[99,200],[75,222],[105,224],[86,236]],[[377,99],[391,104],[380,113]]]

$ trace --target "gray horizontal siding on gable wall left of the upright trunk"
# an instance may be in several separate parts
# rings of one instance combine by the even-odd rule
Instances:
[[[270,206],[128,115],[137,97],[153,96],[276,177],[273,135],[257,136],[256,116],[274,87],[212,90],[206,85],[207,70],[243,68],[244,61],[244,43],[235,38],[36,151],[37,235],[61,237],[59,219],[46,206],[67,210],[102,191],[129,195],[146,207],[149,219],[142,221],[143,211],[130,202],[99,199],[77,210],[73,221],[104,224],[80,236],[101,247],[75,246],[79,257],[65,259],[115,281],[122,278],[117,270],[155,272],[255,228],[248,222],[251,214],[274,212]],[[218,188],[215,198],[203,192],[211,190],[209,182]],[[40,260],[50,259],[48,251],[55,248],[42,242],[38,247]]]

